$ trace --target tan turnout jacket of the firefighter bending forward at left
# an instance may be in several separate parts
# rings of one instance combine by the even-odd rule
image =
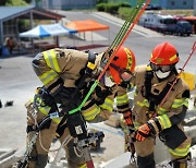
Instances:
[[[33,67],[44,86],[46,88],[52,86],[50,94],[53,94],[60,86],[58,83],[59,80],[63,82],[64,87],[77,87],[76,81],[83,75],[83,70],[85,70],[86,65],[93,69],[93,76],[86,79],[86,84],[91,79],[96,79],[100,73],[101,57],[102,53],[98,55],[95,63],[91,63],[88,61],[88,53],[84,51],[54,48],[38,53],[33,60]],[[128,110],[126,88],[117,85],[108,88],[102,83],[99,84],[99,87],[101,92],[110,89],[111,94],[105,98],[103,104],[99,105],[93,101],[93,99],[98,99],[96,93],[93,93],[90,99],[88,99],[82,108],[82,115],[86,121],[99,122],[107,120],[112,113],[114,97],[117,98],[117,105],[120,107],[119,112]],[[82,93],[83,88],[79,92]],[[50,107],[39,109],[39,111],[42,111],[45,115],[47,115],[49,110]],[[56,122],[59,121],[56,120]]]

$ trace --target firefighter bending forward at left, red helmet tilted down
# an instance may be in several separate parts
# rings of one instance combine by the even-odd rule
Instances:
[[[114,59],[81,111],[75,112],[76,115],[68,115],[70,110],[78,107],[100,74],[103,64],[102,56],[103,53],[95,55],[89,51],[56,48],[40,52],[33,59],[33,68],[44,86],[37,88],[34,100],[26,103],[28,142],[35,133],[35,125],[40,123],[48,113],[61,109],[65,115],[52,119],[39,132],[39,139],[30,154],[28,168],[44,168],[47,165],[48,152],[56,136],[61,143],[69,135],[78,140],[85,139],[87,136],[85,128],[82,127],[82,134],[76,134],[74,127],[84,125],[85,121],[107,120],[112,115],[114,97],[119,112],[124,116],[130,115],[126,87],[135,69],[135,56],[126,47],[121,47],[117,51]],[[73,145],[74,142],[71,140],[64,146],[69,167],[86,167],[84,157],[75,154]]]

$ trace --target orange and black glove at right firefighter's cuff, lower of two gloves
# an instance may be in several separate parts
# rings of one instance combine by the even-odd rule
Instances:
[[[138,128],[135,132],[134,139],[136,141],[145,141],[149,136],[155,136],[156,132],[151,123],[147,122]]]

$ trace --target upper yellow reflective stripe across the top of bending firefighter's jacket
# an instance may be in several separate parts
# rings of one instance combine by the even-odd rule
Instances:
[[[57,56],[56,56],[54,49],[50,49],[48,51],[44,51],[42,55],[44,55],[46,63],[47,63],[47,65],[49,68],[51,68],[56,72],[61,72],[61,70],[59,68],[59,63],[58,63],[58,60],[57,60]]]

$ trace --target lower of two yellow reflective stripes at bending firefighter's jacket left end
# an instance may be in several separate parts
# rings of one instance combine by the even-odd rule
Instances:
[[[53,70],[50,70],[42,75],[39,76],[39,80],[42,82],[44,85],[47,85],[51,81],[54,81],[56,79],[59,77],[59,74],[54,72]]]

